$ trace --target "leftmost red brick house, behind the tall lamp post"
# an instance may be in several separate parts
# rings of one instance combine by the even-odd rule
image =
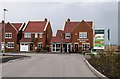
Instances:
[[[24,23],[10,23],[7,22],[4,25],[2,22],[2,43],[4,48],[5,41],[5,51],[18,51],[18,41],[21,39],[21,30],[24,27]],[[4,27],[5,26],[5,27]],[[5,30],[4,30],[5,29]]]

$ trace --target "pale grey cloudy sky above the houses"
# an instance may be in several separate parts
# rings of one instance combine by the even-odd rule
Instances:
[[[6,8],[6,22],[50,20],[53,35],[63,29],[67,18],[71,21],[93,21],[95,28],[105,29],[105,44],[108,44],[107,29],[111,29],[111,44],[118,44],[118,0],[1,0],[0,20]]]

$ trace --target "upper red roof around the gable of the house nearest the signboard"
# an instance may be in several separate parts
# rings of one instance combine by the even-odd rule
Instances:
[[[82,20],[81,22],[83,22],[84,20]],[[64,32],[69,32],[71,33],[74,28],[77,27],[77,25],[79,25],[81,22],[67,22],[65,23],[65,26],[64,26]],[[92,21],[85,21],[91,28],[92,28],[92,24],[93,22]]]

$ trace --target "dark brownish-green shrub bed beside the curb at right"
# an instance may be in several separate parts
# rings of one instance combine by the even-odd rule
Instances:
[[[120,79],[120,54],[91,55],[89,63],[109,79]]]

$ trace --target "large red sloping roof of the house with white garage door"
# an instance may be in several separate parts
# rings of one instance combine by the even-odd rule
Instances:
[[[46,24],[46,21],[29,21],[24,32],[43,32]]]

